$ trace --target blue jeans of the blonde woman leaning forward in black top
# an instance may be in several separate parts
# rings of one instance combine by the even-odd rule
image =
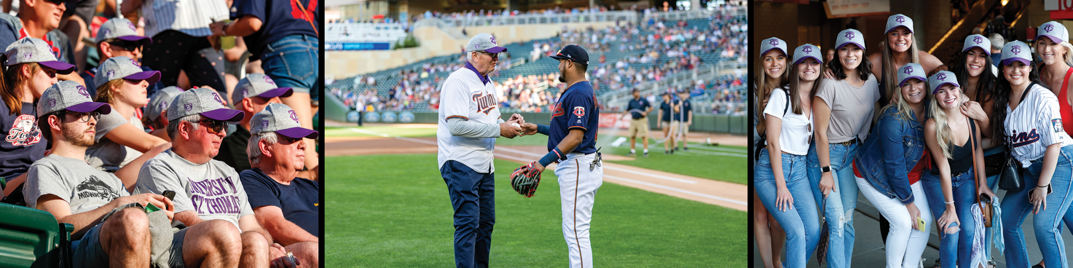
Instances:
[[[959,230],[957,234],[946,234],[942,226],[936,226],[940,238],[939,258],[943,260],[943,267],[970,266],[968,262],[972,257],[972,236],[976,232],[970,209],[972,204],[976,203],[976,181],[972,176],[975,175],[970,168],[950,178]],[[924,182],[924,193],[928,196],[931,215],[938,221],[946,212],[946,197],[942,194],[941,178],[925,172],[921,176],[921,181]]]

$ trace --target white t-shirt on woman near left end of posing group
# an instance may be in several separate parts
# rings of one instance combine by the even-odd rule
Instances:
[[[787,106],[788,101],[783,89],[771,90],[771,98],[767,101],[764,114],[782,119],[782,130],[779,133],[779,147],[782,151],[805,155],[808,153],[808,138],[812,134],[809,129],[812,123],[812,115],[811,113],[794,114],[793,105]],[[782,114],[783,110],[787,113],[785,116]]]

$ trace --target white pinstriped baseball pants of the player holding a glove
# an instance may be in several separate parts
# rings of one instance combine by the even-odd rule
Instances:
[[[562,237],[570,251],[570,267],[592,267],[592,244],[589,242],[589,222],[597,190],[603,185],[603,166],[589,164],[596,153],[569,153],[567,160],[555,167],[559,177],[559,196],[562,198]]]

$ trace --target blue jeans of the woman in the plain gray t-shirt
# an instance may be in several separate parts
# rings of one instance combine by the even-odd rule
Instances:
[[[859,143],[844,146],[841,144],[826,145],[829,148],[831,173],[835,178],[835,191],[827,195],[827,207],[823,214],[827,218],[831,238],[827,242],[827,267],[847,268],[853,257],[853,210],[857,208],[857,182],[853,176],[853,160],[857,157]],[[820,191],[820,159],[815,152],[815,144],[808,151],[808,180],[812,188],[812,196],[817,204],[823,204],[823,191]]]

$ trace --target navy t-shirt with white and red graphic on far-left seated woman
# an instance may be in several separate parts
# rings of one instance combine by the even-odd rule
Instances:
[[[26,173],[30,164],[45,157],[48,140],[38,128],[38,111],[32,103],[23,103],[20,111],[12,115],[3,100],[0,100],[0,130],[4,135],[0,140],[0,177],[14,179]]]

